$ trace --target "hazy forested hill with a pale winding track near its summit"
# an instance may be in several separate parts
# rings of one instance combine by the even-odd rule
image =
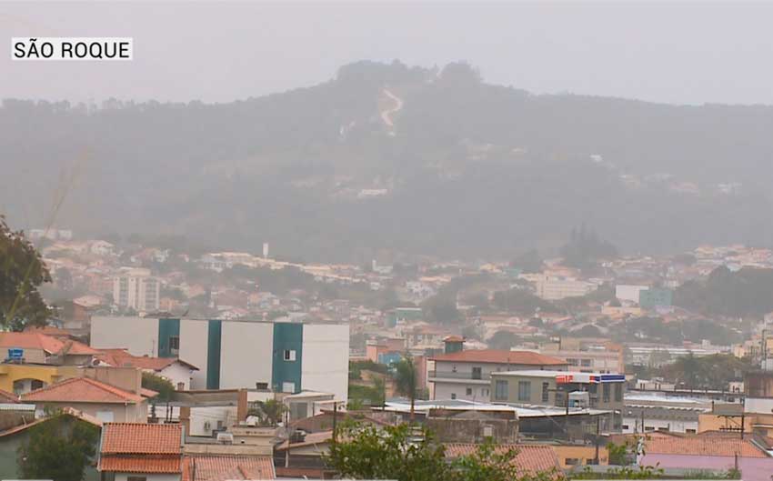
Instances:
[[[0,212],[76,233],[361,262],[773,244],[773,107],[530,95],[464,64],[361,62],[229,104],[4,101]],[[75,173],[74,183],[69,182]]]

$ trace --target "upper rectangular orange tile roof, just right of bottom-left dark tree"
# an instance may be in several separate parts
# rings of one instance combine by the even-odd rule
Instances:
[[[105,423],[102,455],[180,455],[183,426]]]

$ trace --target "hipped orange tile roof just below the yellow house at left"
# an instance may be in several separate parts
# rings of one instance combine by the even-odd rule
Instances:
[[[24,402],[136,404],[143,399],[142,396],[88,377],[65,379],[22,395]]]

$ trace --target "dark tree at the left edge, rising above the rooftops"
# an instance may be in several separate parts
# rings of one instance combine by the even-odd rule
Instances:
[[[51,309],[38,287],[51,282],[43,258],[22,231],[13,231],[0,215],[0,322],[19,330],[45,326]]]

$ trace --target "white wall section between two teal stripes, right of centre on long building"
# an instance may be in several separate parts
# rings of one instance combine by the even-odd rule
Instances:
[[[274,325],[223,322],[220,345],[220,388],[271,386]],[[348,351],[347,351],[348,352]]]

